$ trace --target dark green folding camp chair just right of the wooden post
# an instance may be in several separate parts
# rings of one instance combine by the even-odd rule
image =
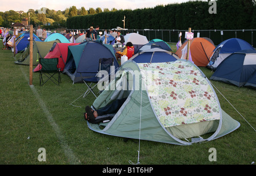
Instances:
[[[39,58],[39,64],[41,68],[40,72],[40,86],[43,86],[49,79],[56,85],[60,85],[60,68],[59,68],[59,58]],[[53,77],[57,73],[58,78]],[[48,79],[44,82],[43,75]],[[42,84],[41,84],[42,83]],[[58,84],[57,84],[58,83]]]

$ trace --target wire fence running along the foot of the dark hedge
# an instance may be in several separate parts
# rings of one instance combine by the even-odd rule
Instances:
[[[84,29],[67,29],[67,31]],[[105,30],[100,30],[105,31]],[[109,30],[108,30],[109,31]],[[179,33],[182,32],[181,41],[185,40],[186,30],[123,30],[122,34],[137,32],[147,37],[148,41],[152,39],[162,39],[166,42],[177,43],[179,41]],[[230,38],[239,38],[247,41],[253,47],[256,48],[256,30],[192,30],[194,37],[208,37],[214,43],[214,45],[220,44],[222,41]],[[103,32],[104,33],[104,32]]]

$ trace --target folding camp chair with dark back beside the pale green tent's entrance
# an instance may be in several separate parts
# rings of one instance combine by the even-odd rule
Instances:
[[[113,74],[115,74],[114,70],[113,70],[113,73],[111,73],[111,66],[114,66],[114,58],[100,58],[99,59],[98,72],[96,73],[96,76],[94,76],[94,77],[96,77],[97,83],[93,86],[92,86],[93,82],[89,81],[89,79],[92,77],[86,77],[87,78],[86,79],[85,77],[82,77],[82,74],[81,74],[82,81],[88,87],[88,89],[86,90],[86,92],[83,95],[83,98],[86,97],[90,92],[97,98],[96,93],[94,93],[93,89],[96,86],[98,86],[99,83],[103,83],[104,81],[106,81],[106,79],[103,79],[103,77],[106,78],[106,75],[104,75],[104,76],[102,75],[102,72],[101,72],[102,70],[105,70],[106,72],[108,72],[108,79],[109,79],[108,82],[110,82],[110,78],[112,78]],[[100,90],[99,92],[101,93],[101,91],[102,90]]]

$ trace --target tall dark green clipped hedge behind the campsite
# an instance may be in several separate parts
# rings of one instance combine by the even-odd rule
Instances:
[[[217,0],[216,14],[209,13],[209,0],[159,5],[154,8],[104,11],[97,14],[73,15],[67,28],[83,29],[100,26],[102,29],[123,27],[131,29],[242,30],[256,28],[254,0]]]

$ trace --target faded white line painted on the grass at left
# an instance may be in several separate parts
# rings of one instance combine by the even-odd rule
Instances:
[[[23,76],[25,77],[26,81],[28,81],[29,83],[29,79],[27,74],[24,72],[22,66],[19,66],[20,70],[22,71]],[[40,95],[38,94],[38,91],[36,91],[36,88],[33,85],[30,85],[31,90],[33,91],[36,99],[38,99],[38,103],[40,104],[40,106],[42,107],[44,114],[46,114],[47,119],[49,121],[49,124],[51,124],[53,130],[56,133],[57,138],[60,140],[60,144],[61,147],[64,150],[65,155],[68,158],[68,161],[70,164],[80,164],[79,159],[75,156],[75,154],[73,153],[72,149],[69,148],[68,144],[65,141],[65,137],[64,135],[61,133],[61,129],[59,128],[59,126],[55,123],[55,120],[53,119],[51,112],[49,112],[46,104],[43,102],[43,100],[40,98]]]

